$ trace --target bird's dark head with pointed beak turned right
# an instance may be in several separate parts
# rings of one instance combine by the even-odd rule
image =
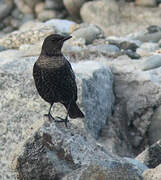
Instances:
[[[63,43],[70,38],[72,36],[62,36],[60,34],[49,35],[43,42],[41,54],[48,56],[60,55]]]

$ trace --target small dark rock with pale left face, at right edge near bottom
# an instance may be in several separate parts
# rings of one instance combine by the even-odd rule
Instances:
[[[161,140],[145,149],[136,159],[146,164],[149,168],[155,168],[161,164]]]

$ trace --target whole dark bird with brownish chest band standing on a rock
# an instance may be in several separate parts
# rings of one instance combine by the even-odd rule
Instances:
[[[46,114],[56,122],[65,122],[67,127],[70,118],[83,118],[84,114],[76,104],[77,85],[75,74],[69,61],[63,56],[61,48],[63,43],[72,36],[64,37],[59,34],[49,35],[43,42],[39,58],[33,67],[33,77],[39,95],[50,104]],[[54,103],[61,103],[67,110],[65,119],[51,115]]]

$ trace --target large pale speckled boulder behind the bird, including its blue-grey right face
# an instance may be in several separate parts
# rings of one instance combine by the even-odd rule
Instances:
[[[7,177],[13,179],[8,167],[10,153],[49,108],[39,97],[32,77],[32,67],[37,57],[22,58],[23,55],[19,50],[0,53],[0,174],[4,180]],[[112,73],[108,67],[96,62],[82,62],[73,65],[73,68],[78,83],[79,106],[86,114],[85,126],[98,136],[113,106]],[[58,105],[54,106],[54,112],[54,116],[66,113]],[[71,122],[80,128],[84,126],[82,119]]]

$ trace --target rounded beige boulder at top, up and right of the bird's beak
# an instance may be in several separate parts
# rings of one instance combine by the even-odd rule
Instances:
[[[96,24],[104,31],[106,27],[119,23],[120,15],[118,12],[118,3],[110,0],[86,2],[80,10],[84,22]]]

